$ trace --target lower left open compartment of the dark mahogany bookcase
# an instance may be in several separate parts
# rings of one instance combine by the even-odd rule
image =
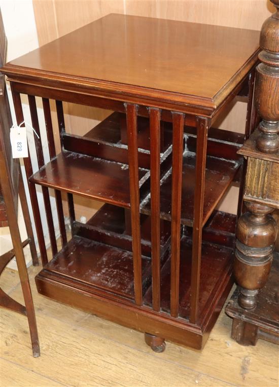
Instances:
[[[128,212],[128,214],[126,214]],[[45,266],[93,288],[133,299],[132,237],[127,218],[130,211],[104,204],[86,224],[73,223],[73,237]],[[161,222],[161,259],[169,250],[170,224]],[[151,283],[150,217],[141,217],[143,291]]]

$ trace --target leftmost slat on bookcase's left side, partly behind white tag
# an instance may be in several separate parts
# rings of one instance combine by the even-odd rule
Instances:
[[[12,96],[14,101],[16,120],[17,120],[17,124],[19,125],[24,121],[20,94],[13,90],[12,83],[11,83],[11,90],[12,90]],[[43,265],[45,266],[48,263],[48,258],[47,258],[47,250],[46,250],[45,239],[43,234],[43,227],[42,227],[42,221],[40,216],[36,186],[29,182],[29,177],[33,174],[30,157],[24,157],[23,161],[24,161],[27,184],[29,188],[29,194],[30,194],[30,199],[31,199],[31,204],[33,209],[34,222],[35,222],[37,237],[39,241],[41,259],[42,259]]]

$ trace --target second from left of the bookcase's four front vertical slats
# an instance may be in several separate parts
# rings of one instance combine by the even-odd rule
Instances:
[[[150,108],[150,179],[153,309],[160,310],[160,111]]]

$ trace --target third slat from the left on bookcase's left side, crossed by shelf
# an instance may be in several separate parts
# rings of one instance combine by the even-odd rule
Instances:
[[[47,129],[49,154],[50,154],[50,158],[54,158],[56,156],[56,151],[55,151],[49,99],[42,98],[42,100],[43,100],[43,109],[44,109],[45,123],[46,123],[46,129]],[[64,222],[61,192],[58,190],[54,190],[54,195],[55,195],[55,201],[56,201],[61,242],[62,242],[62,246],[64,246],[67,243],[67,236],[66,236],[66,228],[65,228],[65,222]]]

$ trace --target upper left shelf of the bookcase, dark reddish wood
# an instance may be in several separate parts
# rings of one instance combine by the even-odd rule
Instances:
[[[138,171],[141,179],[146,169]],[[30,181],[107,203],[130,207],[128,165],[64,151]]]

